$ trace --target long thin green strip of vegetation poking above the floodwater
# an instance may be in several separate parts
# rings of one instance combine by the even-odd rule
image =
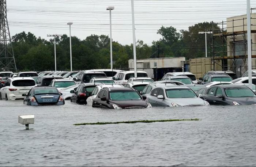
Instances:
[[[135,124],[135,123],[152,123],[152,122],[174,122],[174,121],[200,121],[200,119],[165,119],[165,120],[139,120],[139,121],[123,121],[123,122],[96,122],[96,123],[83,123],[74,124],[79,125],[106,125],[106,124]]]

